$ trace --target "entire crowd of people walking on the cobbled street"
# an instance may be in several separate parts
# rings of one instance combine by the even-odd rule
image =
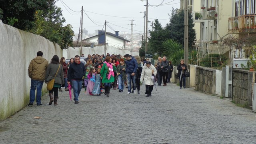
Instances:
[[[109,96],[110,89],[118,89],[123,92],[124,88],[128,88],[127,94],[132,94],[137,88],[137,94],[140,94],[140,86],[144,82],[146,86],[146,97],[152,96],[152,90],[157,83],[158,86],[166,86],[170,83],[172,78],[173,66],[172,62],[168,61],[166,56],[163,58],[158,57],[158,62],[154,66],[147,59],[142,59],[140,56],[131,56],[125,54],[124,56],[106,54],[88,54],[84,65],[80,62],[80,56],[76,55],[70,58],[68,63],[65,58],[59,59],[54,55],[48,64],[48,61],[42,57],[43,53],[39,51],[37,57],[31,60],[28,67],[28,74],[31,78],[30,87],[30,102],[32,105],[35,100],[35,90],[37,105],[41,104],[41,94],[43,82],[46,84],[54,79],[54,86],[49,90],[50,102],[57,104],[58,91],[62,91],[61,87],[64,86],[65,91],[73,89],[75,104],[79,103],[79,95],[82,91],[82,82],[84,82],[84,91],[87,95],[101,95]],[[82,54],[84,56],[84,54]],[[82,57],[81,56],[81,57]],[[186,88],[184,72],[187,66],[184,60],[180,60],[177,69],[180,78],[180,88]],[[157,79],[157,80],[156,80]],[[72,88],[68,88],[72,86]],[[104,92],[103,92],[104,90]]]

